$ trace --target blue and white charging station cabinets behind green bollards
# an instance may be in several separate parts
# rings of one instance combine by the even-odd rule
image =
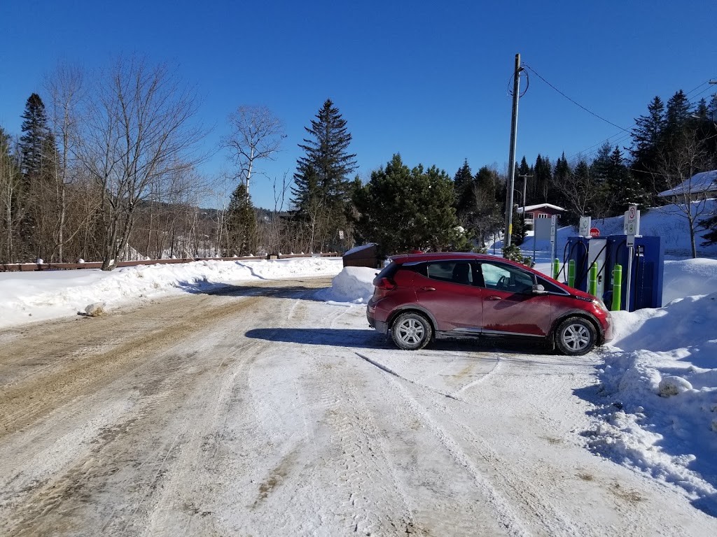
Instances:
[[[620,309],[635,311],[663,305],[664,253],[660,237],[570,237],[565,246],[564,268],[569,261],[575,263],[574,287],[586,292],[590,267],[597,263],[596,294],[608,306],[612,304],[612,269],[615,265],[622,266],[623,274]]]

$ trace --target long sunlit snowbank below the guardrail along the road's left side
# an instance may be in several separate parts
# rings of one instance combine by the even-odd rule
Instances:
[[[163,294],[202,291],[237,281],[332,276],[340,270],[341,260],[337,258],[290,258],[194,261],[110,272],[5,272],[0,273],[0,328],[76,315],[96,302],[104,302],[111,309]]]

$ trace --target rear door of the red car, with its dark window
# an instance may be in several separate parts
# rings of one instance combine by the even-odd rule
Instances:
[[[414,278],[418,303],[431,312],[440,332],[480,332],[481,289],[467,259],[428,261]]]

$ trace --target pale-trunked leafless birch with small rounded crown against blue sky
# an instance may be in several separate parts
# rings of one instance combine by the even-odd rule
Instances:
[[[249,194],[249,183],[257,160],[273,160],[285,138],[284,125],[265,106],[240,106],[229,115],[232,133],[222,137],[222,145],[232,151],[232,159]],[[258,171],[257,171],[258,173]]]

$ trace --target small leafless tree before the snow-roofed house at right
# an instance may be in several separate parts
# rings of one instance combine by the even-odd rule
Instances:
[[[669,188],[657,195],[673,201],[673,205],[665,205],[659,211],[677,214],[687,221],[693,258],[697,257],[695,230],[708,213],[707,191],[701,188],[703,185],[693,181],[693,176],[711,169],[714,164],[709,158],[707,141],[692,130],[676,133],[665,147],[660,148],[655,167],[650,170],[652,177],[659,179],[654,183],[665,184]]]

